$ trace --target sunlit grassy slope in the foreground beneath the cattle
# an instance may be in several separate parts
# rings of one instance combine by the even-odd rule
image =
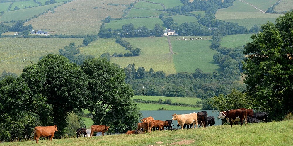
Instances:
[[[40,140],[39,145],[292,145],[293,122],[219,125],[208,128],[165,130],[141,135],[105,135],[104,137]],[[162,144],[156,142],[162,141]],[[35,141],[7,142],[1,145],[32,145]]]

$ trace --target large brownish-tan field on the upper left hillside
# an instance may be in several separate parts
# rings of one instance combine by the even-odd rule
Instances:
[[[57,7],[55,13],[47,13],[25,23],[32,24],[35,30],[50,30],[52,34],[98,34],[101,20],[107,16],[121,18],[125,6],[112,6],[108,3],[130,4],[135,0],[79,0]],[[98,9],[93,9],[97,7]],[[45,22],[45,23],[44,23]]]

